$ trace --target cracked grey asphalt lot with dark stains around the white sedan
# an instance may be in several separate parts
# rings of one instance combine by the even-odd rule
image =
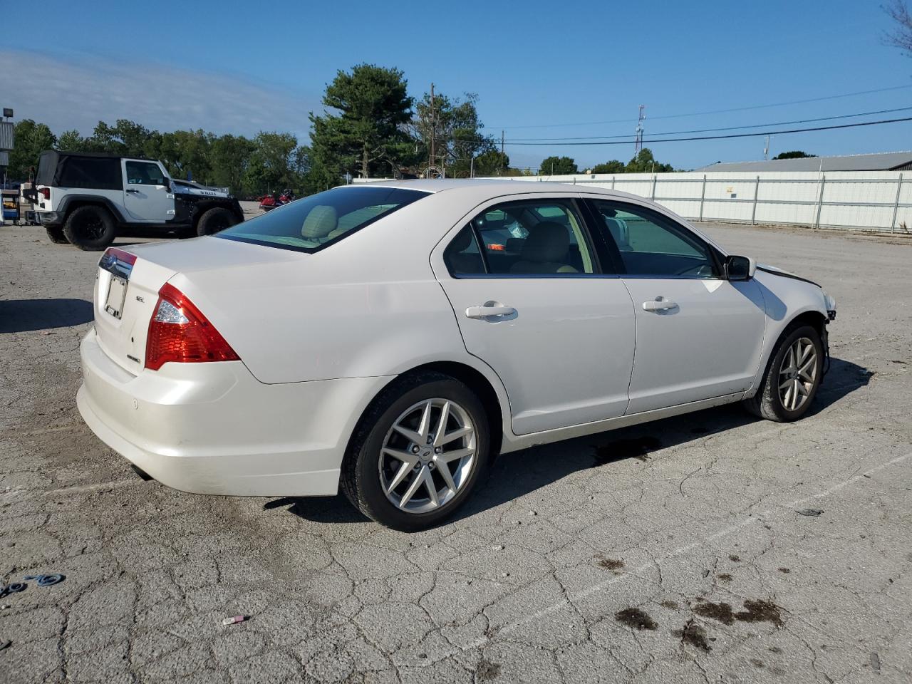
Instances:
[[[0,682],[909,681],[912,241],[705,229],[836,298],[813,415],[509,454],[400,534],[141,481],[75,404],[98,254],[0,228],[0,583],[66,575],[0,597]]]

